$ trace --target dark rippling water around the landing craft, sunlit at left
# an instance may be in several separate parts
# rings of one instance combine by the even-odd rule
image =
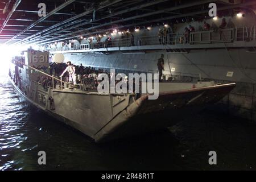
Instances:
[[[100,145],[27,105],[6,78],[0,95],[0,170],[256,169],[256,126],[242,119],[204,111],[162,133]]]

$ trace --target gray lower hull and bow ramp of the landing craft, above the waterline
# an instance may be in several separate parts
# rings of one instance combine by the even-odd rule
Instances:
[[[221,100],[236,85],[172,90],[160,92],[158,100],[148,100],[147,94],[135,100],[135,94],[101,94],[51,88],[44,90],[42,85],[33,81],[26,93],[12,79],[11,82],[30,104],[96,142],[108,142],[170,127],[179,122],[184,113],[188,116],[207,104]],[[168,88],[167,84],[165,88]],[[38,98],[39,94],[45,100]],[[54,100],[54,108],[49,97]]]

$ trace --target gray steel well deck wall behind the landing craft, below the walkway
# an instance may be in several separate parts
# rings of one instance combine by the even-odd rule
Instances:
[[[122,52],[113,51],[109,55],[93,52],[88,55],[77,55],[76,53],[65,53],[64,55],[66,60],[72,60],[75,64],[82,63],[90,67],[115,68],[124,73],[156,73],[158,72],[156,68],[158,57],[160,53],[163,53],[166,70],[164,74],[170,75],[170,68],[174,69],[171,73],[175,80],[192,81],[198,80],[201,76],[204,80],[214,80],[222,83],[236,82],[236,88],[232,90],[229,97],[225,97],[220,103],[226,106],[229,113],[255,122],[255,51],[248,51],[246,48],[253,45],[238,42],[236,47],[234,43],[226,43],[226,46],[229,46],[228,50],[224,43],[154,46],[157,50],[148,50],[149,47],[141,46],[130,49],[141,49],[142,53],[123,54]],[[164,48],[167,48],[167,51],[177,49],[181,52],[166,53]],[[228,75],[228,73],[232,73],[232,75]]]

